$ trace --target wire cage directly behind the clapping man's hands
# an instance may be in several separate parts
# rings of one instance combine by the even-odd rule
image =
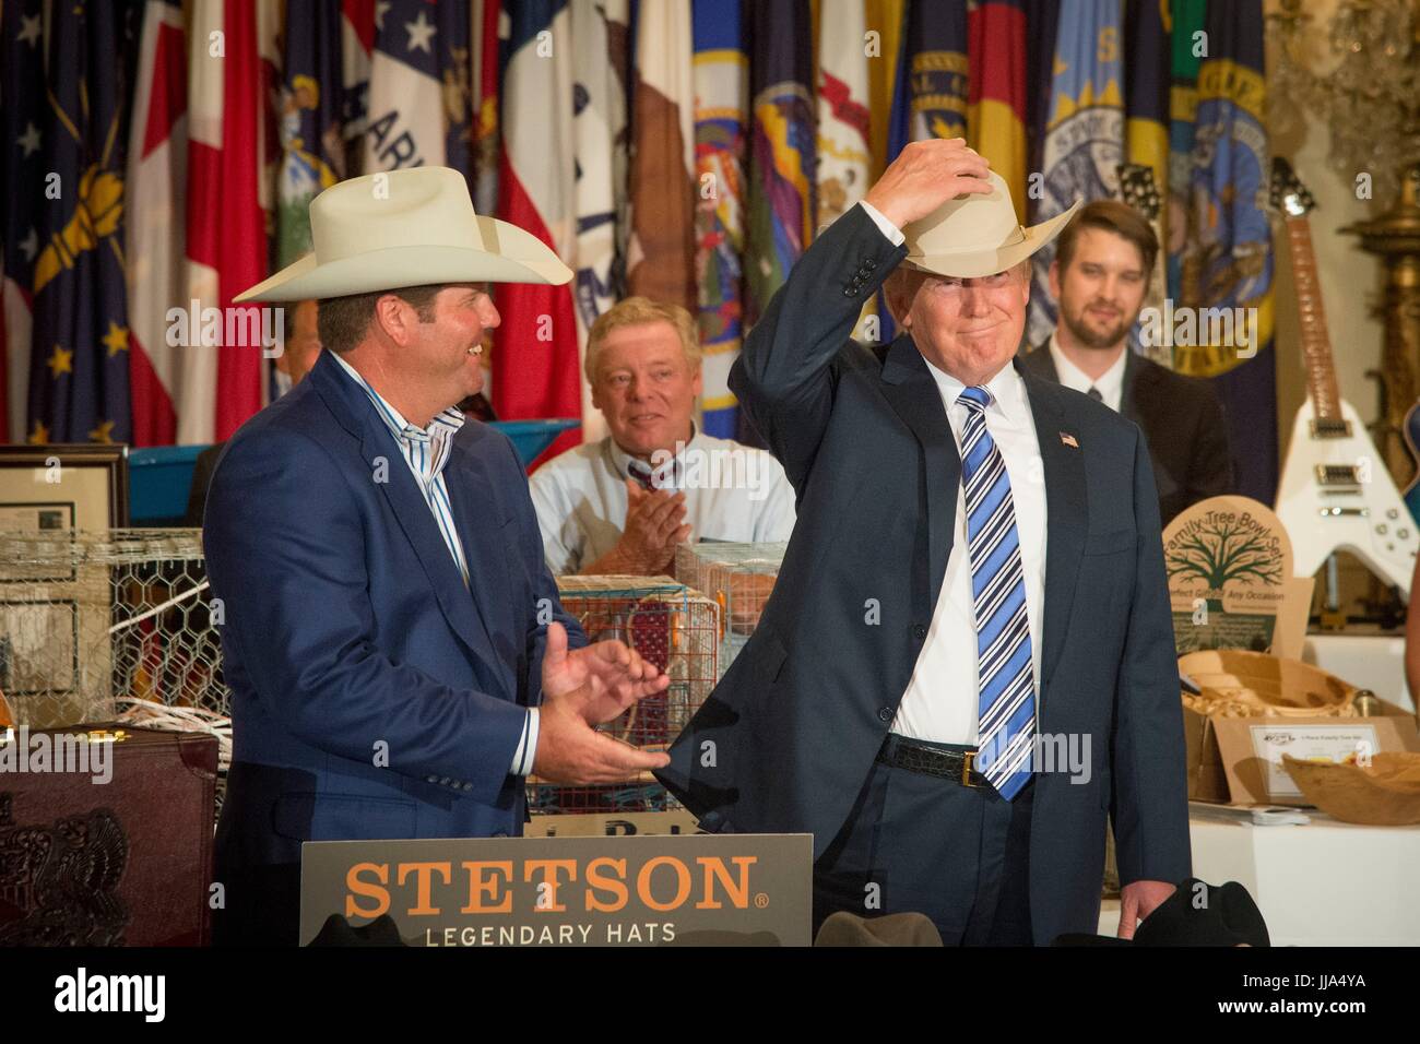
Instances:
[[[720,607],[670,577],[558,577],[562,608],[588,641],[626,642],[670,676],[602,729],[636,747],[663,749],[690,722],[719,679]],[[633,783],[559,785],[528,777],[534,815],[559,812],[659,812],[680,804],[649,773]]]

